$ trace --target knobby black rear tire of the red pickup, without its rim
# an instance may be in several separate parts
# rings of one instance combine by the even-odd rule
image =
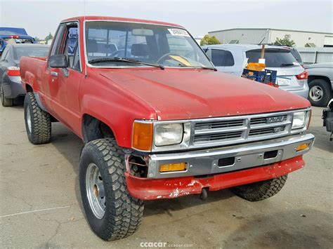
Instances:
[[[51,116],[37,104],[34,93],[25,95],[25,129],[32,144],[47,144],[51,141]],[[31,130],[27,121],[27,110],[30,111]]]

